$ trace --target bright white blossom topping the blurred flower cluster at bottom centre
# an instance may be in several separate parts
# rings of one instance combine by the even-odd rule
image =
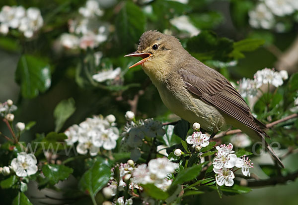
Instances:
[[[151,159],[148,163],[150,173],[155,174],[159,179],[165,178],[168,173],[173,173],[177,167],[177,163],[171,162],[167,158]]]

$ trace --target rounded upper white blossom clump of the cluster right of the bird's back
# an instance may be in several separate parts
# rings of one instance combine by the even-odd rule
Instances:
[[[263,84],[271,84],[275,87],[279,87],[284,83],[282,75],[274,71],[274,69],[269,68],[258,70],[253,77],[257,88],[260,88]]]

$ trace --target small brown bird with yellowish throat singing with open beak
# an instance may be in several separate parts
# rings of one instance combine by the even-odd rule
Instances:
[[[265,141],[265,136],[269,138],[263,130],[266,125],[252,116],[247,103],[222,74],[191,56],[178,39],[147,31],[139,40],[138,50],[125,56],[143,58],[130,68],[142,65],[172,112],[190,123],[199,122],[204,130],[212,132],[212,137],[225,125],[237,127],[262,140],[284,167]]]

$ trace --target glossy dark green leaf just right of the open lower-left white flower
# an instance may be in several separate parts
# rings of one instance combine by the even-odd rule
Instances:
[[[73,171],[72,168],[63,164],[44,164],[42,166],[43,174],[52,185],[57,184],[60,180],[67,179]]]

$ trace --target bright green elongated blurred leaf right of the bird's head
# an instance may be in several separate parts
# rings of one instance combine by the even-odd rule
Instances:
[[[233,51],[229,54],[236,59],[245,57],[243,51],[254,51],[265,43],[263,39],[244,39],[233,44]]]

